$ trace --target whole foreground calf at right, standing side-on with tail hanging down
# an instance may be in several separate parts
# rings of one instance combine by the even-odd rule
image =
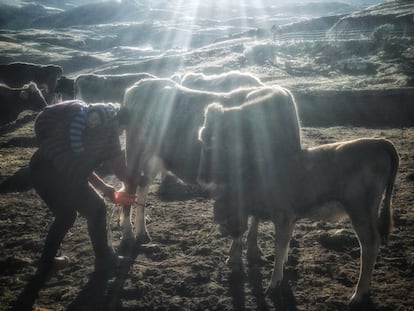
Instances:
[[[233,238],[230,269],[241,266],[241,237],[249,215],[271,220],[275,227],[268,293],[282,282],[296,221],[348,216],[361,248],[351,303],[364,301],[380,242],[387,242],[392,228],[391,196],[399,166],[395,147],[385,139],[362,138],[279,153],[272,147],[278,140],[276,132],[264,125],[273,120],[261,112],[263,106],[257,101],[238,108],[212,104],[199,132],[203,144],[199,180],[214,186],[214,208],[227,219],[223,228]]]

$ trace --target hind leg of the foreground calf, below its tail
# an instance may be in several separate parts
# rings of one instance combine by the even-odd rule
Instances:
[[[366,201],[365,201],[366,202]],[[370,204],[371,205],[371,204]],[[378,206],[379,200],[372,206]],[[378,250],[381,243],[377,226],[377,208],[366,210],[367,205],[355,204],[358,213],[350,215],[352,225],[358,236],[361,259],[358,284],[351,297],[351,304],[356,304],[369,295],[372,272],[377,260]],[[358,215],[357,215],[358,214]]]

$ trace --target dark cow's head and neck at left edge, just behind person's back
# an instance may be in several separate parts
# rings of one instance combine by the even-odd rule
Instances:
[[[0,125],[13,122],[24,110],[40,111],[47,105],[36,83],[12,88],[0,83]]]

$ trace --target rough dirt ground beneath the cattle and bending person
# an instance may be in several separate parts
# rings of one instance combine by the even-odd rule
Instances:
[[[303,128],[306,146],[385,137],[396,145],[401,166],[393,196],[395,229],[381,247],[372,280],[372,310],[414,310],[414,128]],[[34,149],[32,122],[0,129],[1,178],[27,164]],[[109,181],[111,177],[108,177]],[[119,184],[117,184],[119,186]],[[151,188],[148,229],[152,243],[137,248],[115,278],[92,277],[93,254],[85,221],[78,218],[66,236],[62,255],[70,263],[56,270],[35,310],[347,310],[356,285],[359,246],[348,221],[300,221],[285,268],[279,299],[263,295],[273,260],[273,227],[259,228],[268,262],[245,265],[232,274],[225,264],[230,239],[212,223],[212,201],[195,197],[162,201]],[[108,204],[111,240],[120,243],[118,209]],[[51,215],[33,191],[0,195],[0,309],[23,290],[35,271]],[[345,229],[338,233],[339,229]]]

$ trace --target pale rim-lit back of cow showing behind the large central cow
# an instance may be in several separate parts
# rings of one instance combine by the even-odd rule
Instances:
[[[241,87],[262,87],[265,84],[250,73],[229,71],[217,75],[189,72],[184,75],[181,84],[195,90],[230,92]]]

